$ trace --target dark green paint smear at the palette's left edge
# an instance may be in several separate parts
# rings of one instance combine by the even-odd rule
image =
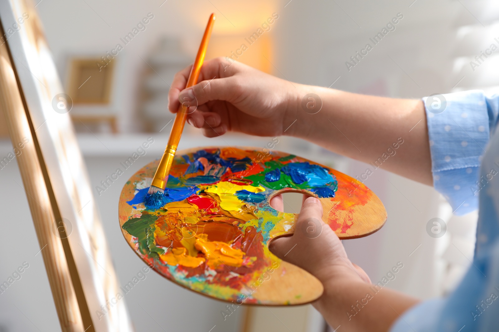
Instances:
[[[165,251],[158,248],[154,241],[154,231],[156,230],[154,223],[157,219],[158,216],[144,214],[141,218],[130,219],[121,227],[138,238],[139,249],[143,254],[159,258],[159,255]]]

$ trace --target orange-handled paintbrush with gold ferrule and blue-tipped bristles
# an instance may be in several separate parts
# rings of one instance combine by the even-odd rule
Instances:
[[[186,88],[192,87],[198,83],[199,72],[201,71],[203,61],[205,60],[206,49],[208,48],[208,42],[210,41],[210,35],[212,33],[214,23],[215,13],[212,13],[210,15],[210,19],[208,20],[208,24],[206,25],[205,34],[201,40],[196,60],[194,61],[191,73],[189,74]],[[177,114],[175,115],[175,121],[173,122],[170,137],[168,139],[168,145],[163,153],[163,157],[161,157],[161,161],[159,162],[156,173],[154,174],[151,187],[149,187],[149,191],[144,199],[144,204],[147,208],[159,209],[163,206],[163,194],[165,193],[168,174],[170,173],[170,168],[172,167],[173,158],[175,157],[175,152],[177,151],[177,146],[179,145],[182,130],[184,130],[188,108],[189,107],[185,107],[184,104],[181,103]]]

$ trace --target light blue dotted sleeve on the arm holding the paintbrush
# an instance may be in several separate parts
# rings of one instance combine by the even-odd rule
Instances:
[[[443,98],[442,98],[443,96]],[[433,184],[456,215],[478,208],[482,155],[494,131],[499,95],[472,90],[423,98],[425,102]]]

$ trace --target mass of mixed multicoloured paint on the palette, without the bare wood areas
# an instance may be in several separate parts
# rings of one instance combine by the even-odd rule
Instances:
[[[271,208],[270,198],[288,188],[333,200],[338,191],[330,169],[291,154],[207,148],[175,157],[162,206],[154,209],[144,205],[154,171],[146,166],[122,192],[134,211],[120,216],[122,228],[136,252],[185,287],[228,301],[246,294],[245,303],[260,303],[248,285],[279,266],[268,241],[294,223],[295,215]]]

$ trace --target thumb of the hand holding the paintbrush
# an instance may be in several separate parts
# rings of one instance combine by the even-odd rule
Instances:
[[[179,102],[184,106],[197,107],[209,101],[222,100],[232,103],[241,94],[233,77],[201,81],[179,94]]]

